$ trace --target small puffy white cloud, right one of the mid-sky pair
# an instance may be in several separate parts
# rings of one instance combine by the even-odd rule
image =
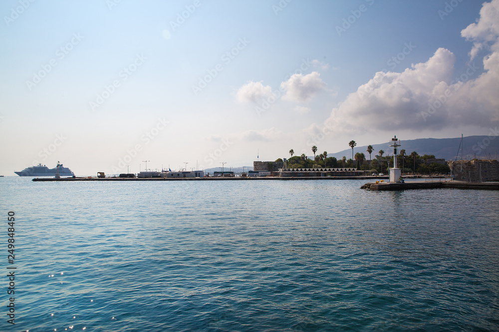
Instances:
[[[310,101],[327,88],[326,83],[319,76],[320,74],[317,72],[308,75],[293,74],[289,80],[280,85],[281,89],[286,91],[282,99],[293,102]]]

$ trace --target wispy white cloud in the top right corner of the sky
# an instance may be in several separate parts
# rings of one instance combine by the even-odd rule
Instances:
[[[484,3],[480,10],[480,19],[477,23],[470,24],[461,31],[466,40],[473,41],[470,52],[472,60],[478,52],[491,45],[493,51],[499,51],[499,0]]]

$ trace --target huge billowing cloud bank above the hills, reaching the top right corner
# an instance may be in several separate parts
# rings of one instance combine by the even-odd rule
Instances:
[[[402,73],[378,72],[331,111],[323,128],[359,132],[499,125],[498,13],[499,0],[484,3],[477,23],[461,32],[473,41],[471,62],[463,72],[455,72],[455,56],[444,48]],[[489,51],[483,72],[480,61],[473,60],[481,50]]]

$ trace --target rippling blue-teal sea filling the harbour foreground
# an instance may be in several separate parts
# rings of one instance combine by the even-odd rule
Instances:
[[[499,331],[499,192],[365,182],[0,178],[0,331]]]

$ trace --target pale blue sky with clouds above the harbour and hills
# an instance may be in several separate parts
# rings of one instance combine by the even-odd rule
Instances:
[[[498,12],[499,0],[2,0],[0,175],[497,136]]]

